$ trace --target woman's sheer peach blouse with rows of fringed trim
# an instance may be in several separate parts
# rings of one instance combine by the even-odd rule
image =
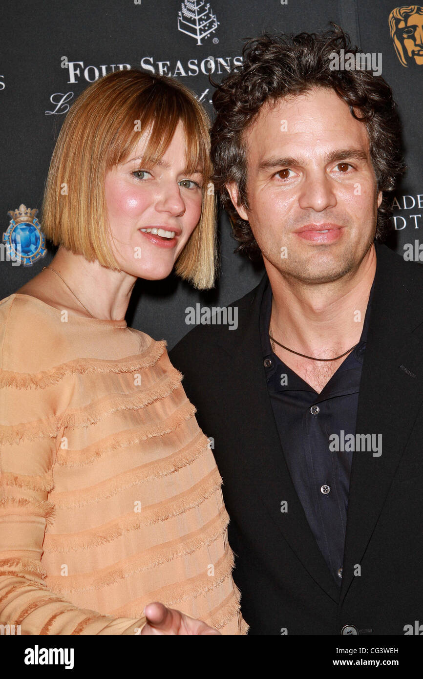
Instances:
[[[166,342],[0,302],[0,623],[139,634],[152,601],[246,634],[208,439]]]

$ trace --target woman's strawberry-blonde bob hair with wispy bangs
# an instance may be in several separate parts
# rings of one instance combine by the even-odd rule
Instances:
[[[88,261],[119,270],[111,251],[105,176],[124,162],[149,132],[143,162],[153,166],[166,152],[179,121],[185,129],[187,174],[203,172],[202,213],[175,272],[198,289],[213,287],[216,210],[210,183],[210,122],[194,94],[178,81],[130,69],[109,73],[71,106],[54,147],[45,185],[42,229],[55,245]]]

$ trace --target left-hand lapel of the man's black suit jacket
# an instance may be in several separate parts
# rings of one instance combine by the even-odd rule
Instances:
[[[265,275],[259,286],[238,303],[238,332],[228,333],[221,345],[231,356],[227,370],[236,394],[236,408],[227,414],[227,419],[230,419],[232,430],[240,432],[240,436],[246,422],[255,423],[255,426],[249,426],[248,440],[236,447],[240,468],[255,484],[270,519],[301,564],[337,602],[339,587],[318,549],[295,491],[274,420],[259,336],[259,310],[266,282]],[[229,374],[227,379],[229,381]],[[283,501],[287,502],[286,512],[281,511]]]

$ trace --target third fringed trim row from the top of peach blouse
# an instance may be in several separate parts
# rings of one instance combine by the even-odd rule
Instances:
[[[56,457],[56,464],[64,467],[83,467],[92,464],[100,457],[118,449],[127,448],[135,443],[161,437],[175,431],[183,422],[189,420],[196,413],[196,408],[188,400],[172,415],[160,422],[147,426],[125,430],[118,434],[111,434],[101,441],[96,441],[81,450],[60,449]]]

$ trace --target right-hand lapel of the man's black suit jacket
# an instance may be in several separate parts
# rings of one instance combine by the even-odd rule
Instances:
[[[404,280],[398,255],[386,246],[376,253],[356,433],[382,435],[382,454],[354,452],[341,600],[354,580],[355,564],[361,563],[423,398],[421,277],[415,292],[412,280]]]

